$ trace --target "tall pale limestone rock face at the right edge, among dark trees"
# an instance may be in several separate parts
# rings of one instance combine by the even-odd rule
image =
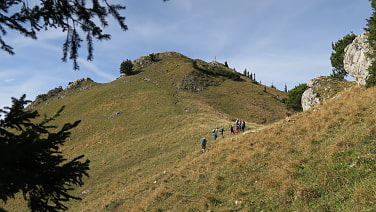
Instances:
[[[372,60],[367,56],[371,48],[367,43],[367,35],[363,33],[345,48],[344,68],[359,85],[365,85],[369,76],[368,67]]]

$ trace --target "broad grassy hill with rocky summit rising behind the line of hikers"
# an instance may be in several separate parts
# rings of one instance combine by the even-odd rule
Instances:
[[[69,202],[70,211],[134,206],[149,198],[154,182],[200,157],[199,140],[212,141],[212,129],[228,131],[238,118],[255,130],[288,113],[280,101],[284,92],[254,84],[220,63],[173,52],[134,63],[134,75],[104,84],[83,79],[30,106],[53,114],[65,105],[58,126],[82,120],[62,149],[70,158],[85,154],[91,160],[90,177],[73,192],[83,200]],[[229,139],[211,142],[209,149]],[[19,199],[5,209],[27,211]]]

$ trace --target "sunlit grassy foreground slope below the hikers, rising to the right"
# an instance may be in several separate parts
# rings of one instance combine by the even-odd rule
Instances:
[[[289,122],[224,142],[166,176],[139,209],[374,211],[375,97],[375,88],[353,88]]]

